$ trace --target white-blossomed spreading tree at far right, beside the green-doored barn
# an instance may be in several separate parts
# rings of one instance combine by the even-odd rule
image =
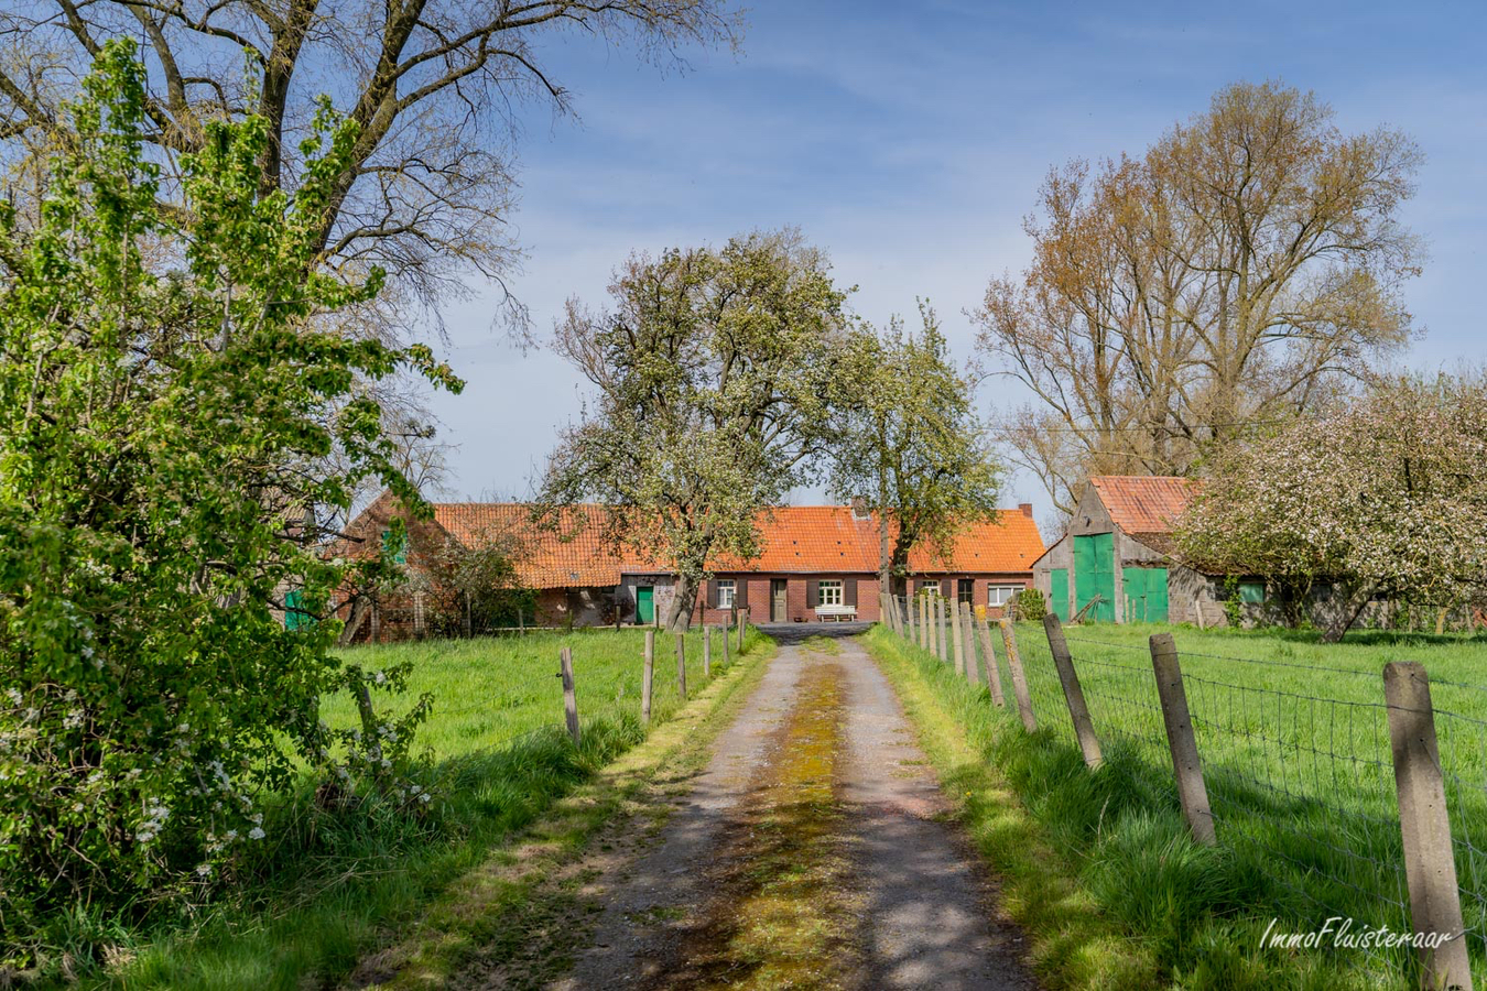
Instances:
[[[1378,380],[1325,416],[1215,459],[1178,527],[1201,566],[1334,590],[1325,639],[1374,597],[1456,606],[1487,594],[1487,377]]]

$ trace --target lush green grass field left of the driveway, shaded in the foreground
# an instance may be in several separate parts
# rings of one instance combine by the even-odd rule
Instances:
[[[764,637],[751,630],[746,652]],[[455,880],[485,863],[552,804],[641,743],[644,631],[593,630],[525,637],[363,646],[342,655],[364,669],[410,661],[409,694],[434,695],[418,734],[419,773],[439,798],[427,816],[379,805],[326,810],[306,792],[269,814],[259,860],[190,918],[147,927],[97,924],[120,963],[83,982],[117,988],[335,987],[357,961],[418,920]],[[674,637],[657,636],[651,725],[680,707]],[[558,652],[571,646],[583,744],[564,728]],[[736,648],[736,639],[730,645]],[[714,636],[714,678],[723,672]],[[736,649],[730,651],[736,655]],[[700,691],[702,633],[687,636],[687,686]],[[349,698],[324,701],[327,722],[354,725]]]

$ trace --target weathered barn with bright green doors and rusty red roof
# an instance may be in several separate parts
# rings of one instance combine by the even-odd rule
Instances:
[[[1191,478],[1094,475],[1069,530],[1033,562],[1033,587],[1060,620],[1222,626],[1221,581],[1172,557],[1172,527],[1194,495]],[[1264,599],[1245,581],[1243,603]]]

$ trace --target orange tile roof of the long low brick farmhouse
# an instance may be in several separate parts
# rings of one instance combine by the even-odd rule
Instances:
[[[572,507],[558,532],[538,529],[531,507],[516,502],[440,502],[434,519],[464,544],[497,536],[517,548],[517,574],[531,588],[616,585],[622,574],[666,571],[633,551],[616,551],[604,539],[604,510]],[[760,517],[761,550],[749,562],[717,560],[718,572],[871,574],[877,571],[879,536],[871,519],[857,519],[851,507],[778,507]],[[915,572],[1017,574],[1042,554],[1042,538],[1032,519],[1002,510],[998,519],[961,532],[950,554],[941,559],[928,548],[915,550]]]

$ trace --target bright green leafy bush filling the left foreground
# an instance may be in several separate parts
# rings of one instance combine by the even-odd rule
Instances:
[[[381,284],[305,275],[354,122],[321,113],[293,196],[265,190],[265,119],[204,123],[167,215],[149,113],[132,46],[103,46],[36,223],[0,214],[0,963],[65,905],[207,884],[300,761],[329,770],[318,697],[361,676],[286,596],[326,618],[327,510],[360,478],[419,505],[355,383],[459,386],[314,321]]]

